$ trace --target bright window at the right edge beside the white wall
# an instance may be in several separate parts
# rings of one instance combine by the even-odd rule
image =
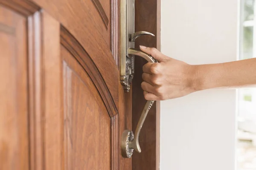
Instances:
[[[239,59],[256,57],[255,0],[241,0]],[[238,168],[256,170],[256,89],[238,91]]]

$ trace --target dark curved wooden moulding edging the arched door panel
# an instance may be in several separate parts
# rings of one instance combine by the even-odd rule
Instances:
[[[111,117],[111,170],[117,170],[119,169],[119,116],[116,105],[113,102],[108,87],[105,85],[96,65],[93,63],[84,48],[81,47],[79,42],[77,42],[77,40],[64,27],[61,27],[61,44],[70,54],[72,54],[76,61],[79,62],[83,71],[88,74],[90,81],[93,82],[93,85],[96,87],[96,90],[108,111],[109,117]],[[92,88],[93,87],[89,87],[88,89]],[[100,99],[98,99],[98,101],[100,101]],[[66,109],[64,110],[66,111]],[[101,130],[101,132],[103,132],[103,130]],[[108,139],[103,140],[102,138],[100,141],[106,140]]]

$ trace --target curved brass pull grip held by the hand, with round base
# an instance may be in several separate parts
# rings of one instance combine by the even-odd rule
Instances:
[[[143,51],[129,48],[128,49],[129,55],[134,56],[140,56],[146,59],[148,62],[157,62],[156,59],[154,59],[151,55],[144,53]],[[140,144],[139,144],[139,136],[140,136],[140,130],[143,126],[143,123],[147,117],[148,111],[150,110],[151,106],[153,105],[154,101],[147,101],[143,111],[141,113],[138,125],[135,130],[135,134],[131,130],[125,130],[122,133],[122,141],[121,141],[121,150],[122,150],[122,156],[125,158],[131,158],[133,151],[136,150],[138,153],[141,152]]]

